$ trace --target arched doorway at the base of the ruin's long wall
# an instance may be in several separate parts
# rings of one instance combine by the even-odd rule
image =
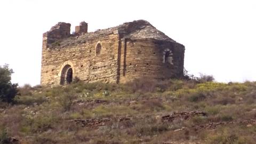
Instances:
[[[73,69],[70,65],[66,65],[61,70],[60,84],[70,84],[73,81]]]

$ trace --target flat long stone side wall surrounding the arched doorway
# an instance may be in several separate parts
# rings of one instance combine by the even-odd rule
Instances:
[[[101,44],[100,55],[95,55],[97,44]],[[86,82],[116,83],[117,49],[118,35],[114,34],[65,47],[49,48],[44,41],[41,84],[59,85],[61,70],[66,65],[72,67],[73,78],[78,77]]]

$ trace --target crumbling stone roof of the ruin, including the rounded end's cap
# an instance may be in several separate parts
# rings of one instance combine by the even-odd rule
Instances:
[[[131,39],[157,39],[175,42],[170,37],[166,36],[162,31],[157,30],[146,20],[136,20],[132,22],[125,22],[122,25],[111,27],[107,29],[99,29],[90,33],[83,33],[79,36],[71,36],[67,39],[63,39],[60,45],[69,45],[74,43],[83,43],[86,40],[93,38],[100,38],[102,36],[117,34],[121,35],[121,38]]]

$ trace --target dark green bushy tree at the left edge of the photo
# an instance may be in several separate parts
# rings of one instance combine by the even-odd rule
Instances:
[[[12,74],[13,70],[9,68],[9,65],[0,66],[0,101],[13,102],[18,92],[18,84],[11,83]]]

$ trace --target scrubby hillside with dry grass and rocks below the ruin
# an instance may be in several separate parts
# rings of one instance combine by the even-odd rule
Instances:
[[[144,78],[119,85],[25,85],[19,93],[13,105],[0,103],[2,143],[256,141],[255,82]]]

